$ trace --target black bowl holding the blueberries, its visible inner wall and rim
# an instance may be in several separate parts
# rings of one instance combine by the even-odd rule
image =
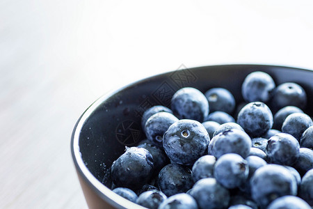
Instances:
[[[264,71],[275,83],[296,82],[313,95],[313,72],[273,65],[216,65],[167,72],[129,84],[102,96],[88,107],[72,133],[72,157],[89,208],[142,208],[111,191],[111,164],[145,138],[143,111],[153,105],[170,106],[179,88],[192,86],[203,93],[212,87],[230,90],[242,102],[241,84],[250,72]],[[312,99],[307,107],[312,107]],[[306,109],[312,115],[313,109]]]

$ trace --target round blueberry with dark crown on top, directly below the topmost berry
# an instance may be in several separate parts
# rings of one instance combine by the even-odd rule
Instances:
[[[263,102],[251,102],[239,111],[237,123],[251,137],[261,137],[271,129],[273,115]]]

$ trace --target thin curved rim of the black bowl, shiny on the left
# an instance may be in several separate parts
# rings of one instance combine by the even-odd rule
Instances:
[[[251,68],[254,67],[266,67],[266,68],[289,68],[291,70],[304,70],[304,71],[310,71],[312,72],[313,70],[310,69],[305,69],[305,68],[297,68],[297,67],[291,67],[291,66],[284,66],[284,65],[267,65],[267,64],[255,64],[255,63],[245,63],[245,64],[220,64],[220,65],[203,65],[203,66],[198,66],[198,67],[193,67],[193,68],[187,68],[188,70],[195,70],[198,68],[214,68],[214,67],[223,67],[223,66],[228,66],[228,67],[240,67],[240,66],[245,66],[248,67],[250,66]],[[184,70],[184,69],[182,69]],[[177,70],[170,70],[167,72],[162,72],[157,75],[152,75],[148,77],[144,77],[142,79],[137,79],[134,82],[130,82],[129,84],[122,86],[120,88],[117,88],[117,90],[109,91],[108,93],[105,93],[102,95],[100,98],[95,100],[90,106],[83,111],[83,114],[79,117],[77,120],[77,123],[74,125],[74,129],[72,131],[72,137],[71,137],[71,153],[72,153],[72,160],[74,161],[74,166],[77,169],[78,174],[83,178],[83,180],[88,184],[88,186],[93,188],[93,191],[100,196],[104,201],[108,202],[111,204],[111,206],[115,208],[144,208],[143,206],[139,206],[136,203],[133,203],[131,201],[128,201],[127,199],[122,198],[118,194],[115,194],[112,192],[111,189],[103,185],[93,174],[88,170],[86,167],[86,164],[83,162],[83,159],[81,157],[81,153],[79,151],[79,135],[81,132],[81,128],[83,127],[83,124],[85,121],[88,119],[88,117],[93,114],[93,111],[99,107],[100,104],[102,104],[105,100],[111,98],[111,96],[115,95],[116,93],[119,93],[120,91],[129,88],[131,86],[134,86],[136,84],[140,84],[142,82],[145,82],[149,79],[154,79],[155,77],[159,77],[162,75],[170,75],[171,73],[175,72]]]

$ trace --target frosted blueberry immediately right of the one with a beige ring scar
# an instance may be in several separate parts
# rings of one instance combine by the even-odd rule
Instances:
[[[246,158],[250,153],[251,139],[246,132],[231,129],[213,137],[209,145],[211,155],[220,157],[227,153],[236,153]]]

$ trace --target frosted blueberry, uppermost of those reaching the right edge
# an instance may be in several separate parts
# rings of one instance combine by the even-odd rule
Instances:
[[[303,113],[294,113],[287,116],[284,123],[282,123],[282,132],[291,134],[300,141],[303,132],[311,125],[313,125],[313,122],[310,116]]]

